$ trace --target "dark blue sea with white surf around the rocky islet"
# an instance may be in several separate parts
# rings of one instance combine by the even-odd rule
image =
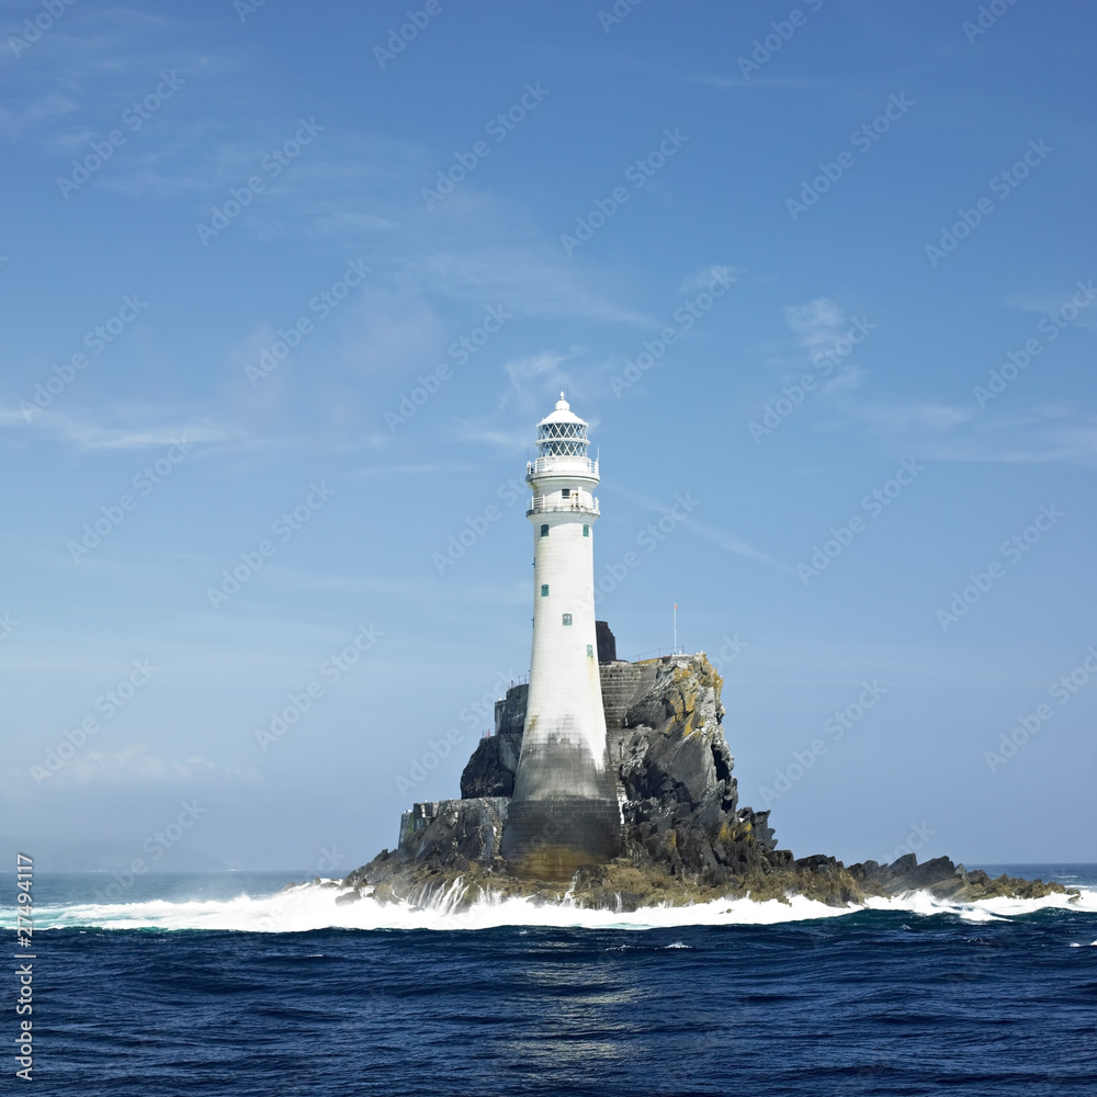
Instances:
[[[621,913],[35,874],[21,947],[7,878],[0,1093],[1097,1097],[1097,866],[981,867],[1082,894]]]

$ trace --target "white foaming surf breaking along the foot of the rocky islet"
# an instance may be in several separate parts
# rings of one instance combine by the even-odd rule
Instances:
[[[589,929],[657,929],[685,926],[769,926],[823,918],[841,918],[860,911],[902,912],[925,917],[951,915],[970,923],[1002,921],[1038,911],[1062,909],[1097,914],[1097,889],[1083,887],[1082,897],[1039,900],[991,898],[950,903],[927,892],[892,898],[870,898],[844,907],[791,896],[788,903],[749,898],[716,900],[690,906],[643,907],[634,912],[590,911],[565,896],[558,903],[500,898],[482,893],[467,904],[460,881],[420,903],[378,903],[354,898],[336,881],[298,884],[274,895],[241,893],[224,901],[151,900],[139,903],[86,903],[37,906],[34,924],[47,929],[230,930],[239,932],[307,932],[316,929],[475,930],[501,926]],[[0,911],[0,927],[12,928],[14,911]]]

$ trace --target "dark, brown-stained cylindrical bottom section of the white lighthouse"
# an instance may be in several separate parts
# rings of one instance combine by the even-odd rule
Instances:
[[[568,881],[584,864],[612,860],[621,841],[621,810],[614,802],[512,800],[500,852],[516,875]]]

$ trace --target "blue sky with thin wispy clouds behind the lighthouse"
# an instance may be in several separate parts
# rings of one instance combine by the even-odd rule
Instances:
[[[599,615],[678,603],[782,845],[1097,859],[1092,9],[615,10],[0,3],[13,837],[456,795],[566,389]]]

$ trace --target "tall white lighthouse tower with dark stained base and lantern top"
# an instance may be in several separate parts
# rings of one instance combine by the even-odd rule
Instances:
[[[533,497],[533,655],[522,749],[502,835],[512,871],[566,879],[621,849],[606,748],[595,627],[598,462],[564,394],[538,423]]]

